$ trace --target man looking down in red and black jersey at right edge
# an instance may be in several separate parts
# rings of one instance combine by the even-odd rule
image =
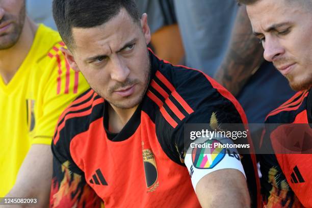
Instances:
[[[265,129],[262,146],[273,149],[275,154],[260,158],[264,203],[268,207],[311,207],[312,156],[287,154],[280,144],[298,153],[309,150],[311,143],[311,129],[302,124],[312,123],[312,1],[239,2],[246,4],[253,33],[265,49],[264,58],[273,62],[298,91],[266,118],[270,127]]]

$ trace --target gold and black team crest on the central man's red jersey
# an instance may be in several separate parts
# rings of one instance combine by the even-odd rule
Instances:
[[[147,192],[152,192],[159,186],[157,166],[154,158],[154,154],[150,149],[143,149],[143,164],[145,172],[145,181],[147,186]]]

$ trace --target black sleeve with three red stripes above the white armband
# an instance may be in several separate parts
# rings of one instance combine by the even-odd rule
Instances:
[[[185,152],[185,124],[210,123],[212,127],[246,123],[239,102],[203,72],[159,60],[153,69],[146,97],[156,135],[169,158],[180,164]],[[148,106],[148,107],[146,107]],[[148,114],[148,115],[150,115]],[[180,155],[178,157],[178,155]]]

